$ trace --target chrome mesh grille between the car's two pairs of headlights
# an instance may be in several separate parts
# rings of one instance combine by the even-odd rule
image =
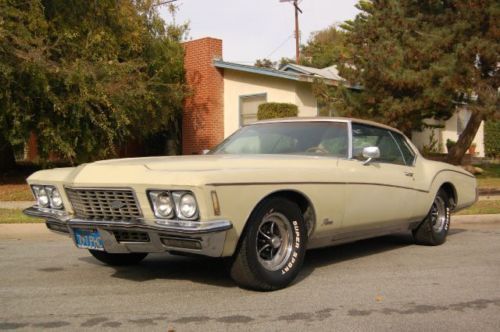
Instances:
[[[75,215],[83,220],[134,222],[141,216],[130,189],[66,188]]]

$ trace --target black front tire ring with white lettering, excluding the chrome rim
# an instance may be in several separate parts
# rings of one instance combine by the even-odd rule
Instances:
[[[257,257],[257,234],[259,225],[270,213],[283,214],[292,228],[292,252],[282,268],[270,271],[261,265]],[[274,287],[284,287],[295,279],[302,267],[306,246],[307,229],[299,207],[282,198],[273,198],[264,202],[252,215],[248,229],[247,253],[248,263],[258,279]]]

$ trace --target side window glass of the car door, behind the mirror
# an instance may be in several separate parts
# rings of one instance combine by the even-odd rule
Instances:
[[[377,146],[380,150],[379,162],[405,165],[401,151],[391,133],[382,128],[352,124],[352,156],[364,160],[363,148]]]

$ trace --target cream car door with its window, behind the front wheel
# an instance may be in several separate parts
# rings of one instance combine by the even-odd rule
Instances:
[[[385,128],[352,124],[352,158],[340,161],[346,206],[343,228],[397,225],[412,216],[413,169],[394,134]],[[363,148],[377,146],[380,158],[365,163]]]

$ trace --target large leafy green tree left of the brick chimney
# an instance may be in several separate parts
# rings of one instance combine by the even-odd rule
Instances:
[[[0,0],[4,147],[33,132],[42,158],[81,162],[172,130],[185,91],[184,31],[151,0]]]

